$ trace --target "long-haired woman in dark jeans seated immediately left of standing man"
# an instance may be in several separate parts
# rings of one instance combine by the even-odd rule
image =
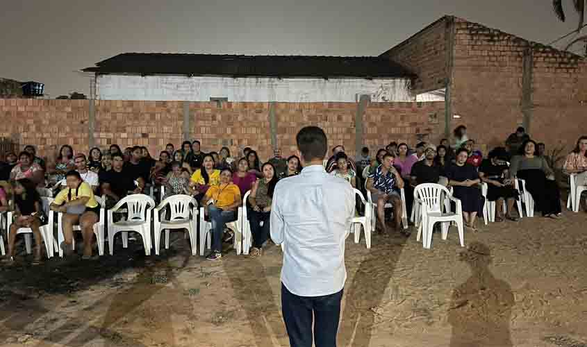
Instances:
[[[277,175],[273,164],[266,162],[261,170],[263,171],[263,178],[256,181],[249,195],[249,203],[251,203],[249,223],[251,224],[251,235],[253,236],[253,247],[249,255],[252,258],[261,255],[261,248],[269,239],[271,203],[275,185],[277,184]],[[263,222],[263,226],[261,226],[261,222]]]

